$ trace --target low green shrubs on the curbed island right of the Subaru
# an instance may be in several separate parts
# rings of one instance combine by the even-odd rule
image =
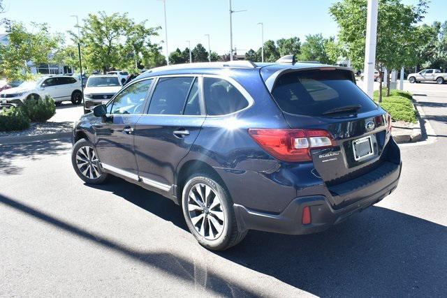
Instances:
[[[391,114],[395,121],[416,123],[418,112],[414,110],[411,101],[411,93],[400,90],[390,90],[390,96],[386,97],[386,89],[383,89],[381,107]],[[379,101],[379,90],[374,91],[374,100]]]

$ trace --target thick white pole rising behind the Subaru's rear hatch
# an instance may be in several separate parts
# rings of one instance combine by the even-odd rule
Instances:
[[[374,66],[376,65],[378,0],[368,0],[365,43],[365,92],[372,98],[374,92]]]

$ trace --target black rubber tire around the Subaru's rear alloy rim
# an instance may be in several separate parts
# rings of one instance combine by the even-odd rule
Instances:
[[[230,248],[231,246],[235,246],[236,244],[240,243],[242,239],[244,239],[244,237],[247,235],[248,232],[248,231],[240,232],[237,229],[236,216],[233,210],[233,201],[231,200],[230,195],[228,194],[226,189],[219,182],[217,182],[218,180],[219,179],[216,179],[212,177],[212,175],[206,173],[193,174],[187,180],[182,191],[182,209],[186,225],[188,225],[189,230],[196,238],[198,243],[201,246],[210,249],[212,251],[223,251],[226,250],[227,248]],[[207,239],[205,236],[201,235],[199,231],[196,230],[196,226],[193,225],[193,222],[191,220],[191,215],[188,207],[189,193],[193,187],[195,186],[200,187],[200,185],[211,187],[212,191],[214,191],[218,196],[218,198],[220,199],[221,204],[219,208],[221,208],[221,211],[223,211],[224,221],[223,221],[223,230],[216,239]],[[210,211],[210,214],[211,213],[212,211]],[[211,215],[207,216],[212,217]],[[205,217],[203,217],[202,221],[205,221]],[[208,223],[209,222],[210,221],[208,221]],[[198,223],[200,223],[200,221],[198,221]],[[211,230],[209,226],[208,228]],[[206,229],[204,228],[204,230]]]

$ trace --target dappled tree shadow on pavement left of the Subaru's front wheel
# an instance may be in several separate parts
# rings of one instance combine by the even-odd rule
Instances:
[[[69,139],[0,145],[0,175],[22,172],[23,167],[15,163],[15,158],[28,158],[29,161],[34,161],[42,156],[61,154],[70,148]]]

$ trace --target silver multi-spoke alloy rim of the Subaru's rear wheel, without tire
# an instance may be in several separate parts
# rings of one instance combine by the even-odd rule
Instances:
[[[196,231],[205,239],[220,237],[225,224],[221,199],[206,184],[194,185],[188,194],[188,214]]]

